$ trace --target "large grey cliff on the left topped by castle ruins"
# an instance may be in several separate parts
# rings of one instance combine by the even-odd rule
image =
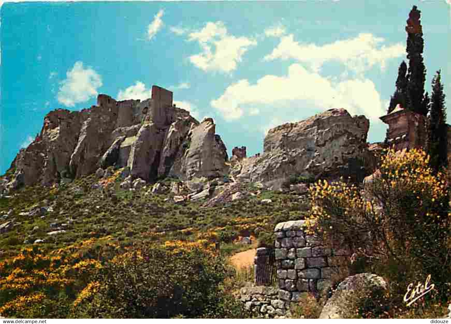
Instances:
[[[144,101],[99,95],[89,109],[47,114],[41,133],[14,159],[5,187],[50,185],[112,165],[128,166],[134,178],[147,181],[173,169],[181,178],[220,174],[227,153],[214,131],[212,121],[199,125],[160,87],[153,86],[152,98]]]

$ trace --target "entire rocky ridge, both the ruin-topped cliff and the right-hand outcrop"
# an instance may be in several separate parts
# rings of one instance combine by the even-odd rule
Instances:
[[[99,95],[89,109],[51,111],[35,140],[19,151],[0,189],[51,185],[110,166],[146,182],[226,175],[233,182],[273,188],[292,176],[361,181],[374,167],[368,128],[364,116],[331,109],[271,129],[262,155],[245,157],[245,147],[235,148],[229,161],[213,119],[199,123],[173,105],[171,91],[153,86],[152,98],[143,101]]]

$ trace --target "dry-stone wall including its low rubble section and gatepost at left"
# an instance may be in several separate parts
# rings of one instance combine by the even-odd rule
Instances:
[[[240,297],[244,308],[257,317],[290,317],[290,304],[298,302],[304,292],[318,296],[330,286],[331,277],[341,269],[347,270],[350,250],[331,249],[321,245],[318,237],[304,232],[304,220],[279,223],[274,228],[277,287],[246,286]],[[254,282],[267,258],[267,249],[257,249]]]

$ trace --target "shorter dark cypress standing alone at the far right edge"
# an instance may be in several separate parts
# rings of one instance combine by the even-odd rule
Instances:
[[[447,166],[448,129],[446,125],[445,94],[440,71],[432,80],[432,94],[428,118],[428,154],[435,171]]]

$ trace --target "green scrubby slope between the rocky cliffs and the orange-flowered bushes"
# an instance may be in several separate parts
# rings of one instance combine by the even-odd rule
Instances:
[[[167,201],[170,194],[146,194],[148,187],[122,190],[115,179],[106,190],[91,189],[96,182],[90,175],[59,188],[25,187],[11,198],[1,198],[0,215],[12,210],[5,220],[14,218],[20,223],[0,235],[2,256],[12,256],[29,246],[24,240],[32,243],[44,239],[41,247],[51,250],[107,235],[112,242],[122,244],[144,239],[165,242],[206,238],[222,243],[222,249],[230,254],[242,248],[233,243],[239,236],[271,235],[276,223],[302,219],[308,209],[297,196],[287,193],[262,192],[226,205],[201,208],[202,201],[176,205]],[[260,204],[266,198],[272,199],[272,204]],[[53,211],[42,217],[20,215],[41,206],[52,206]],[[65,233],[46,235],[61,224],[67,224]],[[33,230],[35,227],[38,229]]]

